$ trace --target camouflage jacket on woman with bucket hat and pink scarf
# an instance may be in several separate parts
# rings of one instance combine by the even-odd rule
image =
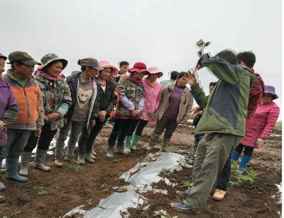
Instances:
[[[53,113],[59,113],[61,115],[57,120],[50,123],[51,130],[61,129],[64,126],[64,115],[68,112],[69,107],[72,105],[69,86],[64,80],[57,80],[55,82],[55,96],[51,96],[50,91],[48,89],[48,87],[51,85],[51,82],[39,76],[35,76],[35,78],[39,82],[39,87],[42,93],[44,111],[46,112],[52,110],[52,108],[49,108],[50,105],[48,105],[47,102],[48,99],[53,97]]]

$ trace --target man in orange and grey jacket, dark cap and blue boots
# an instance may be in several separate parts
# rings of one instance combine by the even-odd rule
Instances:
[[[17,173],[19,157],[28,143],[31,132],[35,131],[35,136],[39,136],[44,126],[42,95],[39,84],[33,77],[34,66],[41,64],[22,51],[10,53],[9,61],[12,71],[5,74],[2,79],[10,84],[20,112],[18,119],[8,126],[8,140],[0,151],[0,161],[6,158],[8,180],[26,182],[28,178]]]

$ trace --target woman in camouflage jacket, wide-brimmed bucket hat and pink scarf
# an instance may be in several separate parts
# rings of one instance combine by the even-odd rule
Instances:
[[[60,73],[65,69],[68,62],[54,53],[45,55],[41,62],[43,66],[38,68],[35,78],[39,83],[43,98],[44,126],[42,127],[40,137],[37,137],[35,132],[32,132],[27,146],[23,149],[20,170],[20,175],[22,176],[29,175],[29,163],[37,143],[34,168],[44,172],[51,170],[49,167],[45,167],[43,162],[57,130],[64,126],[63,117],[72,105],[69,86],[64,80],[60,79]]]

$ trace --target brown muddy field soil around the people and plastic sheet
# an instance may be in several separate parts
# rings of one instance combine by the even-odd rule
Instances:
[[[96,142],[96,163],[86,165],[84,170],[79,172],[67,168],[66,165],[63,169],[56,168],[54,157],[48,156],[46,166],[51,167],[52,171],[44,173],[31,167],[27,183],[7,181],[2,173],[0,181],[4,182],[7,190],[1,192],[1,195],[7,198],[7,202],[0,205],[0,218],[5,215],[9,217],[12,212],[22,208],[22,213],[16,217],[59,218],[77,206],[87,205],[87,209],[96,207],[100,199],[107,198],[114,192],[112,187],[128,185],[115,179],[135,167],[138,161],[145,159],[147,152],[144,149],[149,143],[152,131],[152,128],[147,127],[143,132],[139,151],[128,157],[115,154],[114,159],[107,159],[107,140],[111,128],[102,130]],[[194,141],[193,134],[192,127],[179,127],[173,135],[169,150],[186,154]],[[156,186],[167,189],[168,196],[146,193],[144,197],[149,199],[150,209],[146,212],[131,209],[130,218],[153,217],[154,211],[161,209],[167,210],[172,216],[178,215],[179,218],[279,218],[278,212],[282,212],[282,205],[278,205],[271,196],[277,195],[275,184],[282,182],[282,138],[271,138],[266,141],[264,148],[256,150],[250,168],[262,173],[253,185],[230,187],[223,202],[215,202],[211,196],[200,215],[188,215],[172,210],[170,203],[182,201],[175,194],[176,190],[186,188],[172,188],[160,182]],[[191,181],[191,175],[192,169],[184,169],[168,178],[182,184],[183,181]],[[47,191],[48,194],[39,195],[40,190]]]

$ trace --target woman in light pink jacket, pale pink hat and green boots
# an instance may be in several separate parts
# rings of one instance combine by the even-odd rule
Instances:
[[[157,67],[151,67],[148,69],[150,75],[146,75],[143,79],[145,89],[145,103],[143,115],[138,116],[138,120],[133,124],[130,132],[124,141],[124,148],[126,152],[131,150],[137,150],[138,141],[141,138],[143,129],[146,127],[148,122],[156,114],[162,95],[162,85],[157,82],[158,78],[163,76],[163,73],[159,71]],[[137,127],[137,128],[136,128]],[[135,134],[134,131],[136,129]]]

